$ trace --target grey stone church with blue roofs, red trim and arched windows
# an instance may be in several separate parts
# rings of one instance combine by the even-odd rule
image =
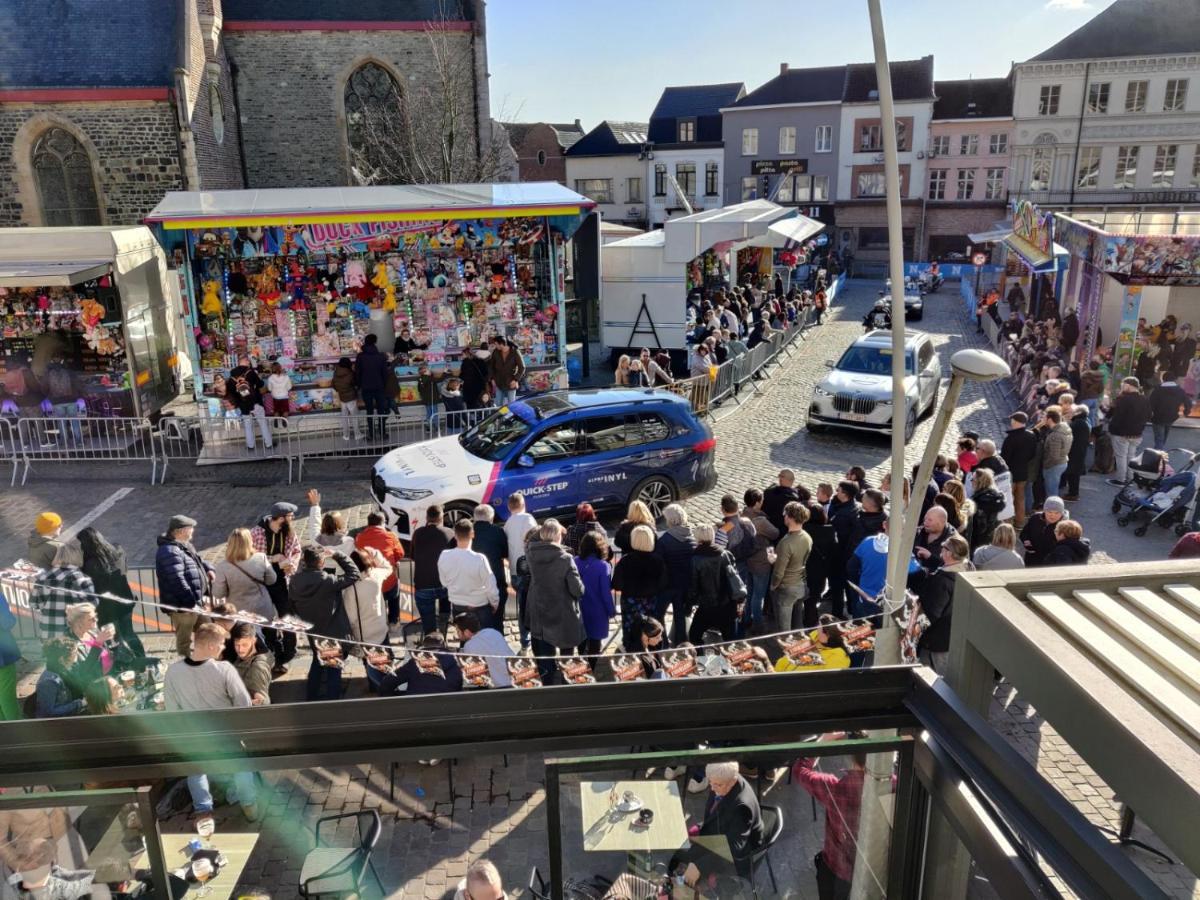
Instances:
[[[0,226],[354,184],[355,112],[419,90],[434,36],[463,60],[468,143],[491,139],[482,0],[5,0],[0,34]]]

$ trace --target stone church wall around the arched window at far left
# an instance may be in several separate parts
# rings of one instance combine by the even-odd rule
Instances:
[[[0,104],[0,224],[42,223],[30,152],[61,126],[91,156],[106,224],[133,224],[167,191],[182,190],[175,112],[154,101]]]

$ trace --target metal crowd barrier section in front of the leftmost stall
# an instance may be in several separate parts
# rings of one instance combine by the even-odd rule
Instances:
[[[16,440],[24,463],[22,485],[34,463],[41,462],[149,462],[150,484],[157,478],[154,431],[145,419],[73,415],[18,419]]]

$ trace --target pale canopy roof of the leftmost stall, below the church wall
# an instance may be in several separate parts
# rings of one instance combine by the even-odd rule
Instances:
[[[132,271],[161,252],[145,226],[0,228],[0,284],[78,284],[110,269]]]

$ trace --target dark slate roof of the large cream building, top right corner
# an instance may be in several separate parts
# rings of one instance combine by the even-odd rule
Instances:
[[[1200,50],[1196,0],[1117,0],[1030,62]]]

